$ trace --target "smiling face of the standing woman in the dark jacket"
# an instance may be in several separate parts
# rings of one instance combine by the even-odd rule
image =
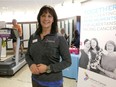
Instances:
[[[53,21],[53,16],[49,12],[43,13],[40,16],[40,23],[42,28],[51,28]]]

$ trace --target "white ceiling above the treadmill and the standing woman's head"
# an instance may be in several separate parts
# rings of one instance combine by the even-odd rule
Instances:
[[[86,1],[86,0],[0,0],[0,12],[18,10],[38,10],[43,5],[55,6],[63,2]]]

